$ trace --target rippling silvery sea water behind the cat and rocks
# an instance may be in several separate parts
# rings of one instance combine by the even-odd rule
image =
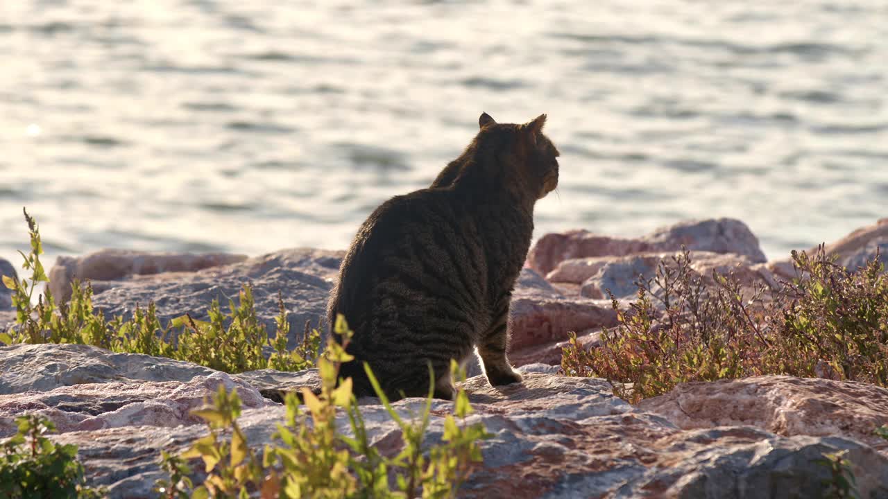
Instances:
[[[536,232],[888,216],[888,2],[0,3],[0,257],[344,249],[477,130],[549,115]]]

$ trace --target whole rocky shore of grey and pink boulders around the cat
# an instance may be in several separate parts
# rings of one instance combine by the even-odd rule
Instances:
[[[853,382],[759,376],[680,384],[637,406],[615,398],[606,381],[558,375],[561,346],[575,331],[594,345],[616,314],[607,291],[628,303],[638,275],[653,276],[662,258],[682,247],[694,270],[733,270],[744,285],[776,286],[794,276],[789,260],[768,261],[742,222],[687,222],[629,239],[587,231],[546,234],[531,250],[512,307],[510,358],[526,382],[492,389],[466,382],[495,437],[485,440],[484,466],[465,497],[819,497],[829,469],[824,452],[847,449],[863,497],[888,497],[888,443],[873,429],[888,424],[888,390]],[[888,219],[826,246],[841,265],[879,254],[888,263]],[[278,296],[290,314],[291,345],[305,322],[317,324],[343,253],[283,249],[261,257],[152,254],[104,250],[60,257],[50,289],[65,297],[73,279],[88,279],[94,306],[127,315],[154,301],[162,321],[190,313],[205,318],[210,300],[227,303],[242,284],[254,289],[259,317],[274,329]],[[0,260],[0,273],[14,272]],[[14,320],[0,291],[0,330]],[[316,384],[313,371],[269,370],[228,375],[187,362],[112,353],[84,345],[0,347],[0,439],[26,412],[48,416],[75,443],[93,485],[111,497],[153,497],[161,449],[178,451],[205,432],[188,411],[218,384],[237,387],[242,426],[261,449],[284,408],[268,390]],[[374,400],[363,409],[371,439],[397,441],[396,427]],[[434,402],[432,413],[448,404]],[[416,400],[396,408],[404,414]],[[431,439],[442,432],[433,416]]]

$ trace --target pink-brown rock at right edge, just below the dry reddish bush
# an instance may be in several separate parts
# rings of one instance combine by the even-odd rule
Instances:
[[[791,376],[685,383],[638,408],[691,430],[749,425],[779,435],[843,435],[888,452],[873,431],[888,424],[888,390],[872,384]]]

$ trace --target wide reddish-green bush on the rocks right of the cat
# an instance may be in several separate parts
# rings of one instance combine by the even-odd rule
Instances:
[[[571,336],[561,368],[601,376],[637,402],[678,383],[786,374],[888,385],[888,279],[878,257],[856,272],[823,249],[792,254],[797,279],[778,289],[741,286],[733,273],[694,272],[690,253],[638,281],[628,310],[599,348]]]

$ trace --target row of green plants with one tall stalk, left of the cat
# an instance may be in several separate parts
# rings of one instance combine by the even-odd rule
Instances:
[[[36,221],[25,211],[31,239],[31,250],[21,253],[22,265],[31,271],[30,279],[20,281],[8,276],[4,284],[12,290],[18,327],[0,332],[0,343],[70,343],[95,345],[113,352],[145,353],[177,360],[187,360],[210,368],[237,373],[251,369],[274,368],[301,370],[313,366],[318,355],[321,334],[306,324],[303,341],[297,348],[287,349],[289,321],[282,297],[278,297],[280,314],[277,331],[270,338],[265,325],[258,320],[252,289],[244,285],[238,301],[229,300],[229,313],[222,313],[218,301],[210,305],[210,320],[197,321],[189,315],[178,317],[163,327],[155,305],[136,306],[129,320],[115,317],[108,321],[92,308],[92,287],[74,281],[71,297],[57,305],[49,289],[37,297],[34,291],[41,282],[49,282],[40,262],[43,245]],[[273,351],[266,355],[266,347]]]

